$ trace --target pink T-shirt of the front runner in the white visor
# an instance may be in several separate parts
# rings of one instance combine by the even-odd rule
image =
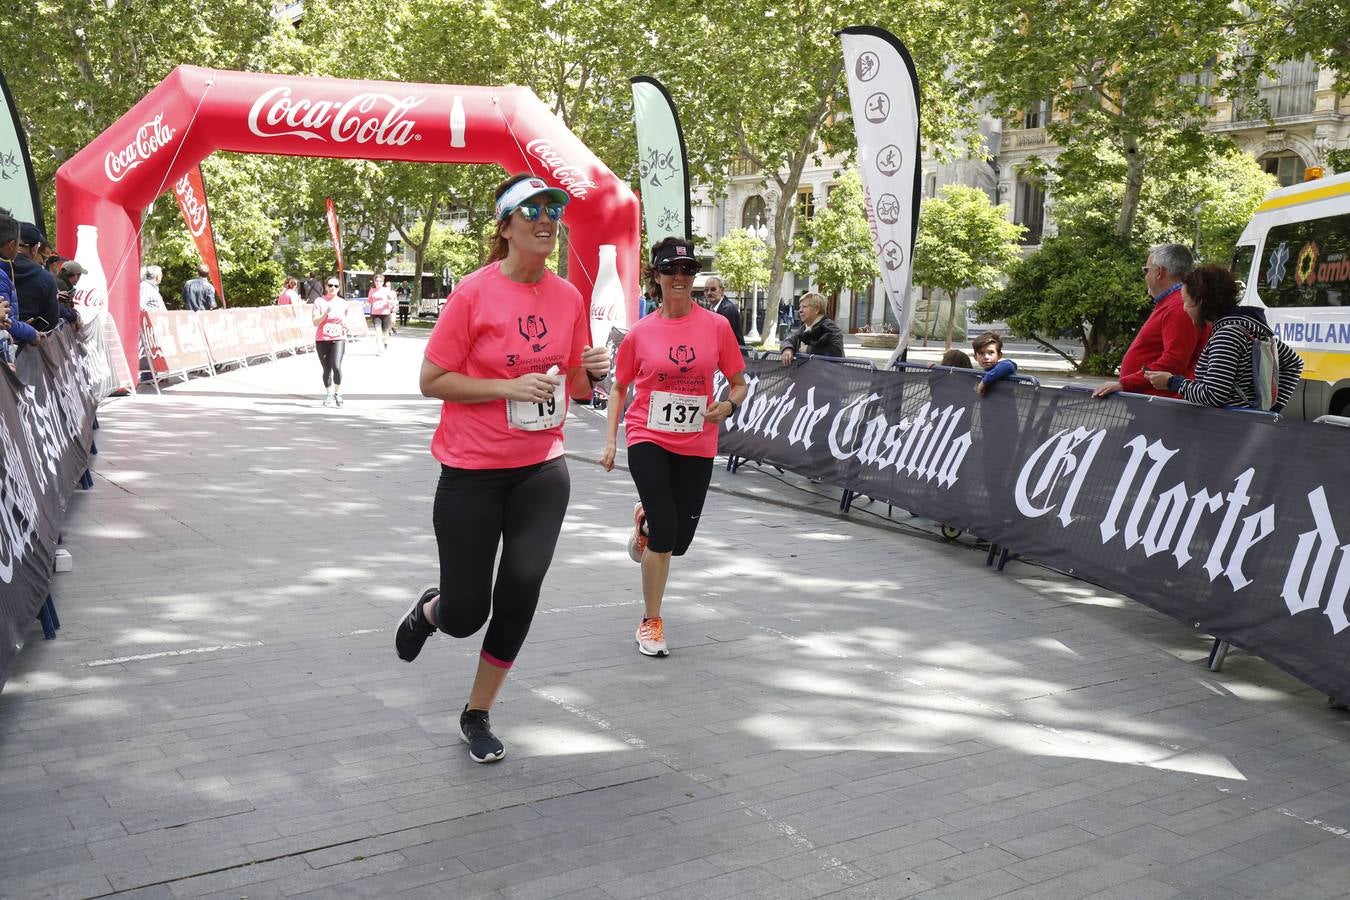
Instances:
[[[508,424],[505,399],[444,402],[432,456],[455,468],[516,468],[562,456],[567,370],[580,366],[589,344],[586,301],[554,273],[545,271],[535,285],[506,278],[501,263],[467,275],[436,318],[427,359],[471,378],[518,378],[558,366],[563,409],[556,426],[525,430]]]

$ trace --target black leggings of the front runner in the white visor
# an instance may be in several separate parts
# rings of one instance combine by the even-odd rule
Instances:
[[[510,668],[535,618],[570,495],[562,456],[520,468],[440,467],[432,522],[440,551],[435,609],[441,631],[468,637],[487,622],[482,658]],[[502,557],[493,584],[498,544]]]

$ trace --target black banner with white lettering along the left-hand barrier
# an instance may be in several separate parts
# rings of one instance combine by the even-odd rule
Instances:
[[[62,325],[0,366],[0,688],[47,598],[57,537],[89,463],[108,374],[101,336]]]

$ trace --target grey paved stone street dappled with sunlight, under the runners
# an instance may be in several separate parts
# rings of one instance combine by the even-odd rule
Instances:
[[[0,895],[1350,896],[1350,714],[884,505],[720,467],[640,656],[591,410],[474,764],[477,640],[393,649],[436,578],[420,349],[352,347],[340,410],[312,354],[104,406],[63,627],[0,694]]]

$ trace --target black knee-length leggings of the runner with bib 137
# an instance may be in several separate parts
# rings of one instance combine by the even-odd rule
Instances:
[[[684,556],[703,514],[711,456],[682,456],[649,441],[628,448],[628,474],[647,515],[647,549]]]

